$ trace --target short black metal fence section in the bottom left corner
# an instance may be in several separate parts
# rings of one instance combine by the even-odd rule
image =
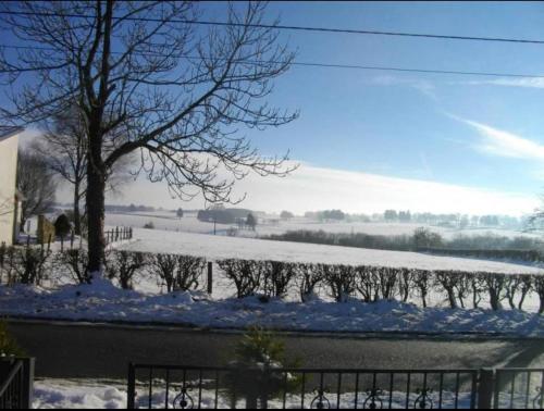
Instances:
[[[0,358],[0,409],[29,409],[34,382],[34,359]]]

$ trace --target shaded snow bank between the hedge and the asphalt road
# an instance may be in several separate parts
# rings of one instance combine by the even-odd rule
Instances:
[[[0,314],[34,319],[180,324],[202,328],[250,325],[282,331],[350,333],[490,334],[544,337],[544,316],[518,310],[422,309],[380,301],[292,302],[258,297],[212,300],[201,292],[146,295],[108,282],[94,286],[0,287]]]

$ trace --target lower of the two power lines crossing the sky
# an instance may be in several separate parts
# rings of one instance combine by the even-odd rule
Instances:
[[[12,45],[1,45],[0,49],[15,49],[15,50],[42,50],[42,51],[57,51],[53,48],[47,47],[32,47],[32,46],[12,46]],[[112,51],[114,54],[122,54],[121,51]],[[135,52],[137,55],[143,57],[163,57],[166,55],[154,52]],[[187,60],[202,60],[198,55],[178,55],[176,58],[187,59]],[[244,60],[238,61],[245,64],[281,64],[282,62],[276,61],[260,61],[260,60]],[[359,65],[359,64],[337,64],[337,63],[318,63],[318,62],[302,62],[295,61],[290,63],[294,66],[306,66],[306,67],[322,67],[322,68],[345,68],[345,70],[364,70],[364,71],[382,71],[382,72],[405,72],[405,73],[422,73],[422,74],[437,74],[437,75],[461,75],[461,76],[481,76],[481,77],[515,77],[515,78],[544,78],[544,74],[523,74],[523,73],[499,73],[499,72],[472,72],[472,71],[457,71],[457,70],[436,70],[436,68],[419,68],[419,67],[397,67],[397,66],[385,66],[385,65]],[[16,70],[13,70],[16,71]],[[0,70],[2,72],[10,72],[9,70]]]

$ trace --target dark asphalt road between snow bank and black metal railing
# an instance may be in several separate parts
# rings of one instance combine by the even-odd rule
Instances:
[[[48,377],[125,377],[127,364],[224,365],[238,333],[176,327],[11,321],[36,373]],[[544,366],[542,339],[455,339],[280,334],[306,368],[475,369]]]

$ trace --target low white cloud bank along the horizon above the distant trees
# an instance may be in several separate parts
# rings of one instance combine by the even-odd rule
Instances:
[[[302,163],[286,178],[250,175],[237,183],[236,192],[247,192],[242,207],[262,211],[342,209],[347,212],[382,212],[387,208],[411,211],[505,213],[531,212],[536,197],[499,192],[419,179],[348,172]],[[172,199],[163,184],[139,180],[128,186],[115,203],[144,203],[175,209],[200,208],[201,200],[182,203]]]

